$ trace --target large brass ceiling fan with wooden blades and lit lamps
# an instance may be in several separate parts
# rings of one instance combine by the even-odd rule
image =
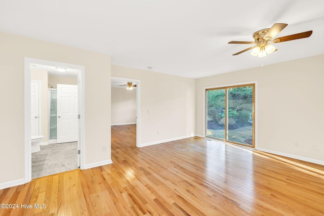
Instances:
[[[248,49],[242,50],[238,53],[233,54],[236,56],[238,54],[244,53],[248,50],[252,50],[252,56],[264,57],[267,54],[273,53],[277,51],[275,47],[269,42],[278,43],[285,42],[289,40],[296,40],[305,37],[309,37],[313,31],[305,31],[297,34],[287,35],[283,37],[278,37],[273,39],[282,29],[284,29],[288,24],[286,23],[275,23],[271,28],[266,28],[259,30],[253,34],[253,38],[255,41],[230,41],[228,44],[256,44],[254,47],[250,47]]]

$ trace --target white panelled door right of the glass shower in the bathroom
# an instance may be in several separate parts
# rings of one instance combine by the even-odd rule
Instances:
[[[78,141],[77,85],[57,84],[57,143]]]

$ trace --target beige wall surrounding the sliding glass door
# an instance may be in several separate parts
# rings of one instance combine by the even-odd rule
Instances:
[[[323,163],[323,68],[320,55],[197,79],[196,134],[205,133],[205,87],[257,81],[257,147]]]

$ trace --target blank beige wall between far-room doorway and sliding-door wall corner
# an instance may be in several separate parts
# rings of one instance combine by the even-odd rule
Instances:
[[[141,145],[194,135],[194,79],[116,65],[111,75],[140,80]]]

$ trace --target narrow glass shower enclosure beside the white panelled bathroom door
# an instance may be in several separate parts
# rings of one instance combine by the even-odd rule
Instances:
[[[57,90],[49,89],[49,143],[56,143],[57,138]]]

